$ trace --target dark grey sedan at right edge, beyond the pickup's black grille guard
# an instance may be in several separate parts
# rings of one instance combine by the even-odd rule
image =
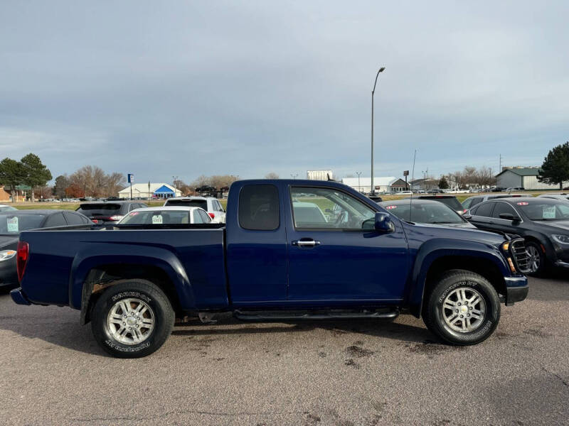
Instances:
[[[569,203],[544,197],[500,198],[467,213],[480,229],[517,234],[526,240],[531,273],[548,266],[569,268]]]

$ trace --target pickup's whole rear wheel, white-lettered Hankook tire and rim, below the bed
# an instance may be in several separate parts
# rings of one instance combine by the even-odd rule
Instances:
[[[97,343],[112,356],[140,358],[166,342],[174,319],[168,297],[156,285],[119,280],[95,302],[91,327]]]

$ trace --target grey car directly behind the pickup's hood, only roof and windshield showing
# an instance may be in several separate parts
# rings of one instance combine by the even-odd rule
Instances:
[[[435,200],[395,200],[379,205],[405,222],[476,228],[453,209]]]

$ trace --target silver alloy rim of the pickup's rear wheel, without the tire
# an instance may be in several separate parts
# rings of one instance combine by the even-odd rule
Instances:
[[[140,299],[123,299],[112,305],[107,315],[112,337],[122,344],[144,342],[154,329],[154,312]]]

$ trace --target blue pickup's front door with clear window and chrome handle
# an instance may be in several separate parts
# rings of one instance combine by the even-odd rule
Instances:
[[[376,210],[348,192],[294,186],[289,191],[289,301],[346,305],[403,298],[408,245],[397,219],[395,231],[381,233],[373,229]],[[364,230],[363,222],[372,229]]]

